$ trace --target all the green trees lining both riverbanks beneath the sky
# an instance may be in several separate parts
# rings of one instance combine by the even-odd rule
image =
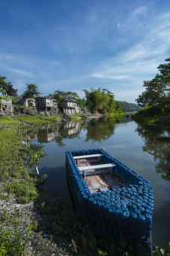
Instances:
[[[170,58],[165,60],[166,63],[160,64],[158,70],[160,74],[151,81],[144,81],[143,86],[145,91],[139,95],[136,102],[142,108],[148,106],[161,106],[163,108],[170,108]],[[13,88],[13,84],[6,81],[7,78],[0,75],[0,103],[1,99],[7,99],[10,96],[15,102],[18,94],[17,90]],[[95,113],[120,113],[121,110],[127,111],[126,104],[115,101],[114,93],[107,89],[91,88],[91,90],[83,90],[85,98],[80,99],[77,93],[71,91],[55,90],[54,93],[49,93],[46,97],[49,99],[57,99],[58,106],[61,106],[62,99],[73,99],[79,103],[80,107],[88,108],[89,111]],[[22,93],[25,98],[40,96],[40,90],[37,84],[26,84],[26,90]],[[134,105],[132,106],[134,107]]]

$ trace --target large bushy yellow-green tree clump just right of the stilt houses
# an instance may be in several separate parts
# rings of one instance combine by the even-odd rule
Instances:
[[[91,91],[83,90],[85,92],[86,103],[85,105],[91,112],[106,113],[120,113],[121,105],[115,102],[114,94],[109,90],[98,88]]]

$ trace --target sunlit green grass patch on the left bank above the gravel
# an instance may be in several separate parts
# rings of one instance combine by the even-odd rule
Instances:
[[[20,203],[28,203],[37,197],[36,180],[26,169],[28,150],[22,143],[24,137],[24,130],[19,136],[17,128],[0,130],[0,175],[1,181],[5,181],[0,192],[1,195],[4,192],[9,196],[13,194]]]

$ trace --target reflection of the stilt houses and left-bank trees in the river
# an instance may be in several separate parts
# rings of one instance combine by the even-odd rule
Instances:
[[[77,120],[66,123],[52,123],[48,126],[42,126],[35,130],[31,130],[28,140],[47,143],[55,141],[58,147],[64,147],[64,139],[73,139],[79,136],[81,130],[86,130],[85,142],[101,142],[101,140],[109,139],[115,130],[115,123],[120,119],[115,117],[105,117],[93,120]],[[130,120],[125,119],[128,122]]]

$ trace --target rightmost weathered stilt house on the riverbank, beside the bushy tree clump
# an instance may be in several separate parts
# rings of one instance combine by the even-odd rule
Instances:
[[[81,109],[78,106],[78,102],[73,99],[63,99],[62,100],[62,111],[64,114],[79,114]]]

